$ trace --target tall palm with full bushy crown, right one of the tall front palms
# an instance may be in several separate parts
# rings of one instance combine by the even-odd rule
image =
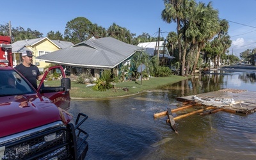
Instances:
[[[191,74],[195,74],[198,64],[201,48],[204,47],[208,40],[211,40],[216,35],[218,26],[218,11],[212,8],[212,3],[205,6],[204,3],[198,3],[195,8],[191,8],[189,14],[188,25],[184,31],[185,36],[191,43],[191,48],[195,49],[195,59]]]

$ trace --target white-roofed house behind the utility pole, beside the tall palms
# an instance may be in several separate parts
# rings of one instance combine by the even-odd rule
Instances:
[[[168,49],[164,46],[164,41],[159,41],[159,45],[158,42],[144,42],[138,46],[143,47],[149,56],[159,56],[159,64],[170,65],[170,61],[174,58],[170,56]]]

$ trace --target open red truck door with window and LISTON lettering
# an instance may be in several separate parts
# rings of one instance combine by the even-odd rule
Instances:
[[[70,105],[70,79],[66,78],[61,66],[50,67],[38,86],[38,93],[56,104],[62,109],[69,109]]]

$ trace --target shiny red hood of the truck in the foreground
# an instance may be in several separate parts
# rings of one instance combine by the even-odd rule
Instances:
[[[71,119],[67,111],[38,93],[0,97],[0,138],[58,120],[67,124]]]

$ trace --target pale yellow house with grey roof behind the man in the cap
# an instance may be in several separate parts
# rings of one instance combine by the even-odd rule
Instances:
[[[13,67],[22,63],[21,54],[23,51],[29,50],[33,52],[35,56],[42,56],[72,45],[73,44],[71,42],[50,40],[47,37],[31,40],[19,40],[12,44]],[[46,63],[43,60],[36,60],[35,57],[33,57],[33,64],[36,65],[40,71],[43,71],[44,68],[49,65],[49,63]]]

